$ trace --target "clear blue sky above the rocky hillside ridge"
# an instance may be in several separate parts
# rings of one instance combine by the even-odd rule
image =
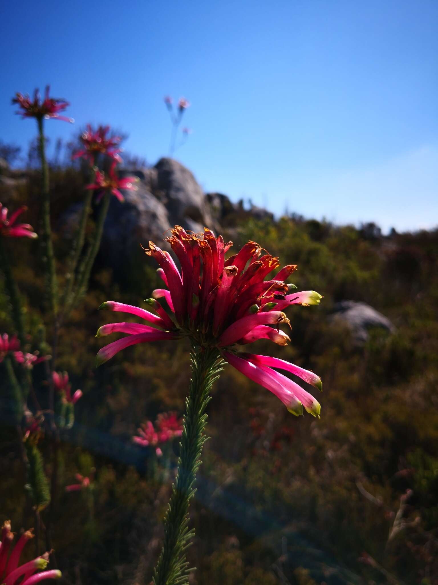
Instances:
[[[337,223],[438,224],[436,0],[5,2],[0,138],[50,83],[76,126],[109,123],[154,164],[166,94],[192,102],[176,152],[206,191]],[[47,135],[74,127],[50,121]]]

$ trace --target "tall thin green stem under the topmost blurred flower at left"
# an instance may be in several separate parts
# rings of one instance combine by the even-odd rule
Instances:
[[[57,314],[57,281],[55,272],[55,256],[50,227],[50,190],[48,185],[48,165],[46,160],[46,139],[44,138],[43,118],[37,118],[39,131],[39,150],[41,171],[43,173],[42,223],[41,245],[43,247],[43,264],[46,273],[46,294],[50,311],[55,317]]]

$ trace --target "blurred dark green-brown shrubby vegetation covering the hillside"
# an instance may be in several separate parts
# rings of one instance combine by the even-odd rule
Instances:
[[[2,185],[0,201],[27,204],[26,221],[37,225],[37,171],[29,173],[13,194]],[[56,229],[61,212],[80,201],[84,178],[78,167],[53,165],[51,183]],[[251,347],[314,370],[324,393],[321,419],[297,419],[227,367],[208,408],[211,439],[191,512],[196,542],[189,556],[198,567],[192,583],[438,583],[438,232],[382,236],[373,224],[356,229],[299,216],[278,222],[234,216],[224,232],[235,247],[252,239],[283,264],[298,264],[298,288],[324,294],[319,307],[288,310],[289,346]],[[59,231],[56,239],[62,266],[68,241]],[[26,314],[32,350],[44,323],[35,248],[20,240],[9,246],[32,307]],[[104,254],[98,257],[85,301],[60,337],[58,369],[84,391],[58,453],[53,562],[65,583],[149,583],[159,553],[178,441],[157,462],[154,449],[131,437],[145,418],[182,413],[188,347],[137,345],[95,369],[103,345],[95,332],[112,321],[99,305],[141,305],[158,285],[146,256],[130,266],[129,278],[121,278]],[[341,300],[370,304],[395,332],[372,331],[358,346],[349,329],[329,319]],[[0,332],[13,333],[1,290]],[[43,368],[34,367],[33,380],[47,408]],[[0,520],[11,518],[18,530],[34,518],[8,422],[0,429]],[[44,437],[40,448],[48,458]],[[65,493],[75,473],[94,474],[92,486]]]

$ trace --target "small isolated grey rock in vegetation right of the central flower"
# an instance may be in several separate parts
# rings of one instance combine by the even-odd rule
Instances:
[[[385,329],[389,333],[395,331],[391,321],[364,302],[340,301],[335,304],[330,317],[333,324],[345,324],[352,332],[357,345],[369,339],[369,331],[373,328]]]

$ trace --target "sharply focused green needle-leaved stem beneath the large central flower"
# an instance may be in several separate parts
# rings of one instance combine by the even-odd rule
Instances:
[[[186,549],[194,536],[189,529],[189,504],[195,489],[196,472],[201,464],[201,451],[207,437],[206,407],[210,401],[213,382],[222,371],[220,354],[215,348],[193,347],[192,379],[186,399],[183,433],[180,442],[178,474],[172,486],[172,495],[164,518],[164,544],[154,569],[154,585],[186,585],[189,563]]]

